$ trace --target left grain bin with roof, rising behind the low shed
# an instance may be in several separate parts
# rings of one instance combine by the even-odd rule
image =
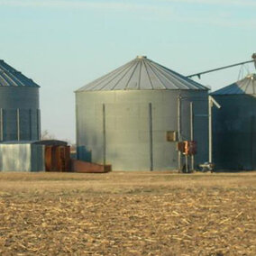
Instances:
[[[40,137],[39,86],[0,60],[0,141]]]

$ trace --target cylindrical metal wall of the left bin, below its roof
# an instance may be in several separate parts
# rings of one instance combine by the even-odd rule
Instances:
[[[0,141],[41,137],[38,87],[0,87]]]

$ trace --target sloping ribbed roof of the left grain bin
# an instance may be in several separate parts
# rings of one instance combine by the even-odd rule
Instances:
[[[26,78],[16,69],[0,59],[0,87],[39,87],[32,79]]]

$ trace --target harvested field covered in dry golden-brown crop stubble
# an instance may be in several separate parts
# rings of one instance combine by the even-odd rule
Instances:
[[[0,173],[0,255],[256,255],[256,173]]]

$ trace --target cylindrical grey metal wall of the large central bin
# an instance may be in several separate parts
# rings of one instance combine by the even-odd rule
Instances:
[[[178,96],[180,135],[183,140],[190,138],[190,102],[193,102],[194,139],[198,147],[195,165],[205,162],[208,147],[207,90],[78,92],[78,159],[103,164],[105,155],[106,164],[111,164],[114,170],[150,170],[152,163],[154,170],[178,169],[176,142],[166,140],[167,131],[177,131]],[[184,164],[185,159],[181,160]]]

